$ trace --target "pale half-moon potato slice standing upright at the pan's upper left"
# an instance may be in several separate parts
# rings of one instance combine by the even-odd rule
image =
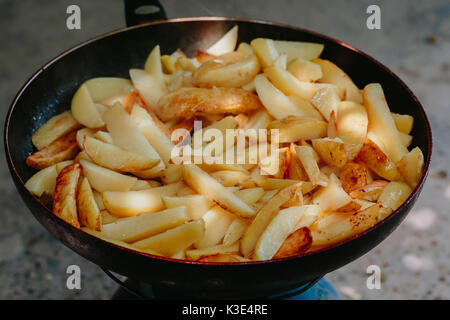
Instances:
[[[88,128],[105,125],[86,84],[82,84],[73,95],[71,111],[73,117]]]

